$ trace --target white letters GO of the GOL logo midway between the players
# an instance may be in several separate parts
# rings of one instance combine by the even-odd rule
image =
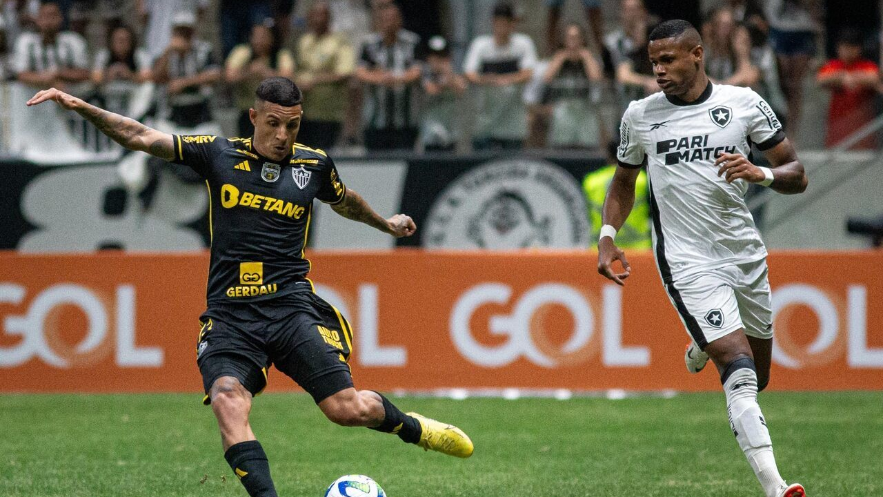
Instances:
[[[485,367],[500,367],[525,356],[532,363],[547,368],[564,363],[582,363],[595,352],[592,346],[594,315],[585,296],[566,285],[547,283],[533,287],[513,305],[509,316],[492,316],[488,322],[491,334],[507,336],[501,345],[489,347],[472,333],[470,320],[479,307],[488,303],[506,304],[512,289],[499,283],[472,287],[454,306],[450,316],[450,333],[463,356]],[[556,348],[547,339],[547,330],[534,324],[534,317],[548,305],[561,305],[570,311],[574,328],[570,339]]]

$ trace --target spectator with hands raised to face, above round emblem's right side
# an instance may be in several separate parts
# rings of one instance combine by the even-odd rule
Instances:
[[[582,27],[564,30],[564,46],[555,52],[544,76],[544,103],[551,107],[548,144],[553,147],[597,148],[600,136],[597,109],[603,81],[600,62],[588,50]]]

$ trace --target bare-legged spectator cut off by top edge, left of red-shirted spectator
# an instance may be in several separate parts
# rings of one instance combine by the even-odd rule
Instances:
[[[767,0],[765,7],[770,44],[778,58],[781,89],[788,103],[787,131],[793,138],[803,108],[806,69],[816,53],[818,0]]]

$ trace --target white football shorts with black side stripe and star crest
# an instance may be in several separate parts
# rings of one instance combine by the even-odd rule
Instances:
[[[696,345],[742,328],[748,336],[773,338],[773,306],[766,259],[691,274],[665,285],[668,298]]]

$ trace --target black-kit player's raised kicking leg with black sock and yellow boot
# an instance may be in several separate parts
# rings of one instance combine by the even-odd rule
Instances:
[[[404,414],[389,399],[371,390],[345,388],[320,401],[319,409],[342,426],[365,426],[393,433],[405,442],[447,455],[472,455],[472,440],[457,426],[413,412]]]

